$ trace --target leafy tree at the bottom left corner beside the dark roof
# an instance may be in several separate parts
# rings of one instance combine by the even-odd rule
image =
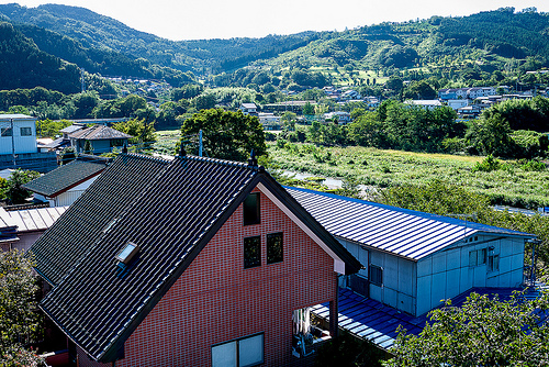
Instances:
[[[34,353],[21,345],[40,334],[32,262],[16,249],[0,252],[0,365],[37,366]]]

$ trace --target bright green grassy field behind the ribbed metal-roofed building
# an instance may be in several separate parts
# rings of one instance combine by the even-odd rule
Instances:
[[[366,147],[316,147],[288,143],[269,144],[269,156],[278,168],[377,187],[440,179],[490,197],[493,203],[525,208],[549,205],[549,169],[527,171],[517,162],[505,169],[472,171],[483,157],[381,151]]]

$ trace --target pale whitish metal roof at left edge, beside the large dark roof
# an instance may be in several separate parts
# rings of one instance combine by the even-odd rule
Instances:
[[[61,216],[68,207],[5,211],[0,208],[0,227],[16,226],[18,233],[45,231]]]

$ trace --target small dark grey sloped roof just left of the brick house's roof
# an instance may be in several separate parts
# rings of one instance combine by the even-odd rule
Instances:
[[[82,154],[76,160],[23,185],[23,188],[54,198],[101,174],[108,164],[109,159]]]

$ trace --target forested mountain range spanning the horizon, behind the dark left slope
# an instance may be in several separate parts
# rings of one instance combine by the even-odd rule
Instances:
[[[200,78],[211,86],[249,87],[267,94],[292,86],[343,84],[379,96],[380,90],[368,88],[391,78],[401,79],[395,84],[401,89],[402,80],[429,78],[434,90],[518,86],[519,80],[534,86],[539,78],[524,78],[525,71],[549,67],[549,14],[535,9],[502,8],[345,32],[180,42],[76,7],[0,4],[0,19],[41,52],[89,73],[163,79],[173,87]]]

